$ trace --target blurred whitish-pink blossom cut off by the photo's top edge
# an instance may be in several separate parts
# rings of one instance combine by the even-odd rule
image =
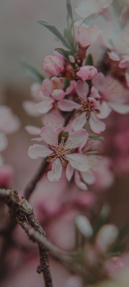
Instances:
[[[92,14],[103,12],[112,1],[113,0],[81,0],[78,1],[76,13],[82,18],[87,18]]]

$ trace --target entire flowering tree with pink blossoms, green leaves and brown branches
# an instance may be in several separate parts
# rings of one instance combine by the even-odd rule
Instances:
[[[39,21],[56,36],[61,46],[44,59],[44,70],[49,77],[45,78],[42,71],[30,63],[22,63],[34,81],[33,99],[23,103],[24,110],[41,119],[40,127],[25,127],[36,142],[28,148],[28,155],[34,161],[41,157],[43,162],[21,197],[11,189],[12,168],[3,164],[0,154],[0,198],[8,205],[11,215],[5,230],[0,231],[3,236],[1,274],[8,250],[16,245],[13,231],[17,224],[38,244],[37,272],[43,273],[45,287],[53,286],[48,252],[71,274],[65,287],[96,284],[112,277],[116,266],[121,269],[120,262],[129,261],[128,253],[126,256],[124,253],[127,242],[123,243],[126,231],[110,221],[106,200],[98,200],[96,193],[114,182],[113,158],[110,153],[107,157],[108,145],[102,132],[114,115],[129,113],[128,24],[120,26],[127,9],[124,7],[116,20],[114,32],[112,2],[82,0],[76,8],[81,19],[74,20],[70,0],[67,0],[64,34],[50,22]],[[99,16],[109,19],[103,30],[96,24],[91,25]],[[96,45],[101,45],[103,50],[101,59],[97,60],[90,52]],[[1,105],[0,152],[7,146],[6,134],[18,128],[18,118]],[[44,197],[45,184],[47,195]],[[38,198],[32,193],[36,190],[34,194],[38,194],[39,186],[43,192]],[[36,213],[28,202],[30,196],[36,196],[32,200]],[[74,241],[68,247],[62,245],[62,239],[60,243],[61,233],[59,242],[53,236],[65,217],[71,224]],[[50,240],[46,238],[44,226]]]

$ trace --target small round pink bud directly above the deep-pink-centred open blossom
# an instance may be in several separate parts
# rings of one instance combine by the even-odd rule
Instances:
[[[82,80],[92,80],[98,74],[97,69],[94,66],[82,66],[76,75]]]

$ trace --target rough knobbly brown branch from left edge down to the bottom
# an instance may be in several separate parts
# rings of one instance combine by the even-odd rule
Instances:
[[[25,230],[28,237],[37,241],[36,235],[40,235],[44,241],[46,240],[46,234],[42,229],[38,219],[33,213],[31,205],[25,198],[18,198],[18,193],[13,190],[0,190],[0,198],[8,205],[9,213],[12,218],[15,218],[16,222]],[[38,242],[40,265],[37,268],[39,273],[43,273],[45,287],[52,287],[52,279],[49,269],[48,261],[48,249],[41,243]]]

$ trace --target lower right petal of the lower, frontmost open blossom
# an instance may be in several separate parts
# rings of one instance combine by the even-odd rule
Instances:
[[[70,165],[80,172],[86,172],[89,169],[88,159],[85,155],[76,153],[66,155],[66,158]]]

